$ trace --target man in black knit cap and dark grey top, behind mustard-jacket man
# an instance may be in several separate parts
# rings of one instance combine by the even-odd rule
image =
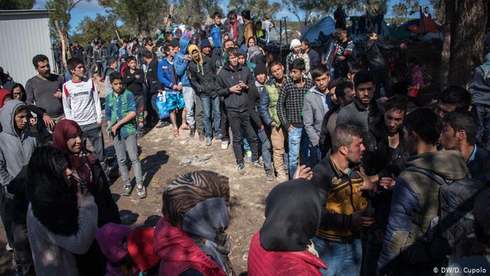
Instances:
[[[356,98],[340,109],[337,125],[351,123],[360,127],[367,134],[370,126],[376,125],[384,112],[376,101],[372,100],[375,89],[372,74],[360,71],[354,77],[354,83]]]

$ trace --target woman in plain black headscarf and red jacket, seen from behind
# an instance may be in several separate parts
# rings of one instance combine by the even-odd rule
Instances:
[[[318,275],[327,266],[312,242],[321,219],[313,184],[295,179],[275,186],[265,200],[265,222],[248,249],[248,275]]]

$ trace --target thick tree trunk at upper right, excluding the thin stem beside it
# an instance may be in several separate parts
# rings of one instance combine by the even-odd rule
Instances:
[[[458,1],[451,32],[448,84],[468,88],[472,72],[482,64],[488,0]]]

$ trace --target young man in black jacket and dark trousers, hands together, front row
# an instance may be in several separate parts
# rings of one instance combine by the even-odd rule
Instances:
[[[240,128],[244,127],[246,139],[252,151],[252,165],[262,167],[258,160],[257,134],[253,131],[248,112],[248,90],[257,89],[253,83],[251,71],[238,63],[238,51],[235,48],[226,50],[228,62],[216,77],[218,95],[224,97],[228,120],[232,128],[233,151],[237,160],[239,174],[245,174],[244,152],[241,148]]]

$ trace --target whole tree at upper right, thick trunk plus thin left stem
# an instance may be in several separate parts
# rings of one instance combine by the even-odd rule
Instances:
[[[445,24],[441,53],[441,87],[468,87],[482,64],[489,0],[444,0]]]

